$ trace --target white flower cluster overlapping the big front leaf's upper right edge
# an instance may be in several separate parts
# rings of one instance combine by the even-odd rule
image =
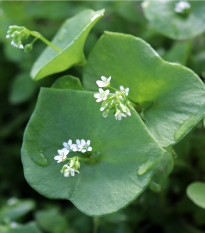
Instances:
[[[124,88],[120,86],[120,90],[117,90],[110,86],[111,76],[106,78],[101,77],[101,80],[97,80],[96,83],[99,88],[99,93],[95,93],[94,97],[96,102],[103,101],[100,111],[102,116],[106,118],[109,115],[111,109],[115,111],[115,119],[121,120],[122,117],[131,116],[130,109],[133,108],[131,102],[128,100],[129,88]],[[115,93],[110,94],[110,90],[103,90],[101,87],[108,87],[112,90],[115,90]]]

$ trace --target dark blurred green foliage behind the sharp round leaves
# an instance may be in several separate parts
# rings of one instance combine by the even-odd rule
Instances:
[[[193,69],[204,81],[204,33],[183,41],[170,39],[145,18],[141,2],[0,2],[0,232],[205,232],[205,210],[186,195],[190,183],[205,181],[202,122],[177,144],[174,170],[162,190],[147,190],[115,214],[88,217],[67,201],[44,198],[26,183],[20,161],[24,128],[39,88],[50,86],[57,76],[32,81],[31,67],[45,46],[38,42],[32,53],[24,54],[5,39],[7,28],[24,25],[51,39],[66,18],[87,8],[105,8],[106,12],[86,40],[86,55],[103,31],[128,33],[146,40],[165,60]],[[82,68],[72,68],[69,73],[82,77]],[[195,200],[191,189],[187,193]]]

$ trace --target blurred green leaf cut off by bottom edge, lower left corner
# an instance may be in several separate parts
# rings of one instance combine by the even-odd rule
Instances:
[[[42,233],[37,227],[36,223],[30,222],[22,226],[6,231],[6,233]]]

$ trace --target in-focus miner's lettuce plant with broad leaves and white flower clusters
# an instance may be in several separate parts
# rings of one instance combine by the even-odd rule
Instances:
[[[68,19],[34,64],[34,80],[81,65],[82,84],[59,74],[41,89],[22,146],[28,183],[91,216],[118,211],[147,187],[160,191],[173,146],[205,117],[200,78],[140,38],[104,32],[86,61],[86,37],[103,12]]]

